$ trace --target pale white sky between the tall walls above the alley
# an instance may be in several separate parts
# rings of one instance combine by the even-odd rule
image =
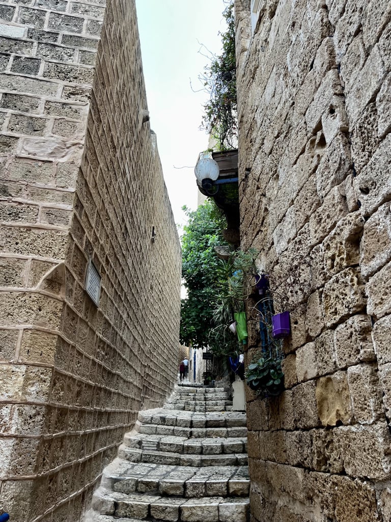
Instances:
[[[210,63],[200,43],[221,53],[225,20],[223,0],[136,0],[141,54],[157,147],[175,222],[183,226],[181,207],[197,208],[198,188],[194,165],[207,148],[208,136],[200,131],[202,103],[198,75]],[[200,43],[199,43],[200,42]],[[205,49],[201,52],[208,54]],[[175,167],[191,166],[177,170]]]

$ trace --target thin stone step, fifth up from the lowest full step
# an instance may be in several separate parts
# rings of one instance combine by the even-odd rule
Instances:
[[[162,426],[160,424],[136,424],[135,430],[142,434],[172,435],[187,438],[204,437],[246,437],[246,426],[232,428],[181,428],[181,426]]]

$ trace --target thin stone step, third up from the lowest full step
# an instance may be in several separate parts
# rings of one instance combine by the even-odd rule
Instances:
[[[243,453],[188,455],[175,452],[161,452],[153,449],[129,448],[121,444],[118,457],[131,462],[149,462],[167,466],[247,466],[247,455]]]

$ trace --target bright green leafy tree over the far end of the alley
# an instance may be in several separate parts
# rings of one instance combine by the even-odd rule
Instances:
[[[194,347],[209,345],[216,352],[226,349],[224,333],[214,328],[216,288],[224,278],[224,266],[214,247],[227,245],[221,211],[206,201],[194,212],[184,207],[188,224],[182,236],[182,278],[187,298],[181,301],[180,342]]]

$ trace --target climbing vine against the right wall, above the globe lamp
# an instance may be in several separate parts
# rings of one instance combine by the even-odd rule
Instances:
[[[202,126],[217,141],[219,150],[235,148],[237,138],[236,60],[234,2],[228,0],[223,12],[227,31],[221,33],[223,52],[214,55],[211,64],[200,76],[204,88],[210,94],[204,105]]]

